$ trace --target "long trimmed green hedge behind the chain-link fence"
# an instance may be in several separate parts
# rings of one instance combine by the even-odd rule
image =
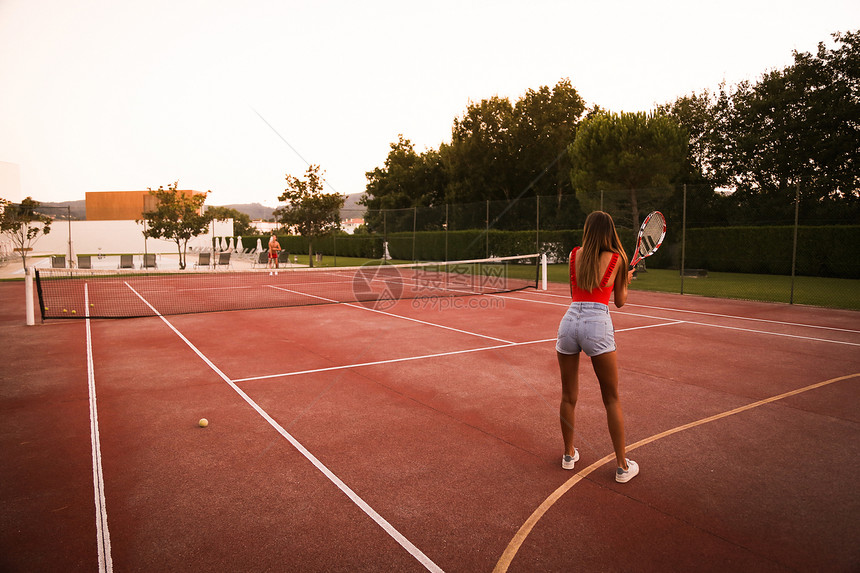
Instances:
[[[632,256],[636,234],[632,229],[618,229],[618,236]],[[571,249],[580,243],[581,230],[541,231],[540,252],[551,261],[566,261]],[[243,237],[245,248],[254,248],[258,237]],[[263,239],[264,245],[268,237]],[[534,231],[422,231],[391,233],[388,252],[394,259],[438,261],[447,259],[481,259],[490,256],[526,255],[538,250]],[[791,274],[794,227],[712,227],[687,229],[686,261],[688,269],[709,271]],[[279,236],[281,248],[289,253],[308,252],[305,237]],[[860,225],[800,227],[797,238],[798,275],[817,277],[860,278],[860,262],[853,247],[860,245]],[[383,254],[383,240],[377,235],[339,235],[314,241],[314,251],[326,255],[378,259]],[[670,225],[657,253],[647,260],[655,269],[679,269],[681,266],[681,228]]]

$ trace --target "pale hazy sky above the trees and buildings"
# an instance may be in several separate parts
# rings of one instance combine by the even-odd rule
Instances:
[[[570,78],[647,111],[857,29],[857,0],[0,0],[0,161],[40,201],[178,180],[276,206],[306,162],[364,191],[470,101]]]

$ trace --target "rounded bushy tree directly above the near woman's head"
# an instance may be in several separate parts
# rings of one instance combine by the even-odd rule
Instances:
[[[616,213],[626,209],[629,224],[638,228],[640,210],[651,208],[644,200],[659,203],[671,196],[669,184],[684,165],[687,141],[678,122],[661,113],[600,113],[585,119],[569,148],[571,182],[580,203],[594,210],[599,192],[612,191],[604,194],[604,202],[614,204]]]

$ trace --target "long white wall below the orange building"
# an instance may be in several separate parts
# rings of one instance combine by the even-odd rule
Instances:
[[[72,248],[76,255],[99,253],[176,253],[176,243],[163,239],[146,239],[144,244],[143,225],[134,221],[72,221]],[[209,247],[213,237],[233,236],[233,219],[214,221],[209,232],[191,239],[192,246]],[[69,253],[69,222],[55,220],[51,232],[40,236],[33,247],[34,253]]]

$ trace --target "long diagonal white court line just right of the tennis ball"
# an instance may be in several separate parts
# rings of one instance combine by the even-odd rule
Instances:
[[[131,291],[137,295],[143,303],[152,309],[152,311],[166,324],[170,330],[172,330],[188,347],[200,357],[203,362],[212,369],[224,382],[226,382],[233,390],[242,397],[245,402],[248,403],[251,408],[253,408],[266,422],[272,426],[275,431],[277,431],[281,436],[283,436],[296,450],[298,450],[308,461],[310,461],[314,467],[316,467],[323,475],[325,475],[329,481],[331,481],[339,490],[341,490],[352,502],[357,505],[365,514],[367,514],[373,521],[377,523],[392,539],[394,539],[397,543],[400,544],[401,547],[406,549],[410,555],[412,555],[419,563],[421,563],[427,570],[429,571],[438,571],[442,572],[442,569],[436,565],[429,557],[427,557],[420,549],[418,549],[411,541],[406,539],[406,537],[397,531],[393,525],[391,525],[384,517],[382,517],[379,513],[376,512],[370,505],[367,504],[357,493],[355,493],[352,488],[346,485],[343,480],[337,477],[330,469],[328,469],[325,464],[323,464],[316,456],[314,456],[307,448],[305,448],[301,442],[299,442],[292,434],[290,434],[287,430],[284,429],[278,422],[274,420],[271,416],[269,416],[268,412],[266,412],[259,404],[257,404],[250,396],[248,396],[245,392],[239,388],[236,383],[231,380],[226,374],[224,374],[215,364],[212,363],[209,358],[207,358],[200,350],[197,349],[194,344],[188,340],[185,335],[183,335],[179,330],[170,323],[161,313],[156,310],[149,301],[140,296],[140,294],[132,288],[131,285],[125,283],[125,285],[131,289]]]

